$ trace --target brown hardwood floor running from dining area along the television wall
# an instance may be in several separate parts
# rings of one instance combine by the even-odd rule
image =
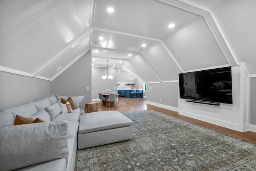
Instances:
[[[195,123],[197,125],[201,125],[203,127],[207,127],[209,129],[213,129],[215,131],[225,133],[227,135],[231,135],[233,137],[237,137],[240,139],[244,139],[246,141],[256,143],[256,133],[252,131],[247,131],[247,132],[239,132],[235,131],[233,129],[228,129],[225,127],[221,127],[218,125],[214,125],[208,122],[200,121],[197,119],[193,119],[190,117],[186,117],[183,115],[179,115],[178,112],[164,109],[162,107],[157,107],[154,105],[149,105],[146,104],[146,99],[145,98],[125,98],[125,97],[118,97],[117,105],[115,106],[104,106],[100,104],[100,101],[98,101],[98,106],[99,106],[99,111],[108,111],[108,110],[116,110],[120,112],[128,112],[128,111],[140,111],[140,110],[155,110],[159,111],[161,113],[165,113],[166,115],[170,115],[173,117],[177,117],[179,119]]]

